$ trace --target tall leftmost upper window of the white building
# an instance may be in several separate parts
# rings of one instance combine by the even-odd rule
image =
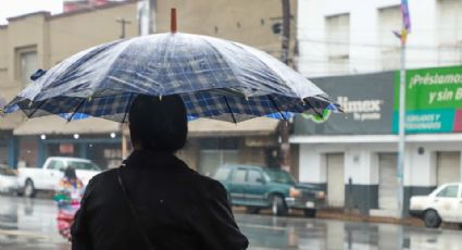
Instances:
[[[327,16],[326,28],[329,73],[348,73],[350,59],[350,15]]]

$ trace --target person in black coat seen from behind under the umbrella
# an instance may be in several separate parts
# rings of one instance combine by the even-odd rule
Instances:
[[[88,184],[72,249],[247,249],[225,188],[174,153],[187,137],[178,96],[139,95],[128,113],[133,153]]]

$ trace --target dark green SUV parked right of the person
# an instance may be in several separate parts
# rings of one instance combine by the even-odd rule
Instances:
[[[289,209],[298,209],[314,217],[325,203],[324,191],[297,183],[280,168],[224,165],[213,177],[225,186],[233,205],[244,205],[250,213],[271,209],[274,215],[284,215]]]

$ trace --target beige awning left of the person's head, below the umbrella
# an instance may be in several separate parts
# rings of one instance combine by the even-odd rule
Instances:
[[[57,115],[32,118],[16,129],[13,135],[73,135],[104,134],[120,132],[121,124],[102,118],[85,118],[67,123]]]

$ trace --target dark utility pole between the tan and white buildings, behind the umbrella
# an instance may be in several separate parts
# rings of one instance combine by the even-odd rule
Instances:
[[[290,47],[290,0],[280,0],[283,4],[283,37],[280,60],[289,64]],[[279,124],[280,133],[280,167],[290,171],[290,143],[289,143],[289,121],[285,118]]]

